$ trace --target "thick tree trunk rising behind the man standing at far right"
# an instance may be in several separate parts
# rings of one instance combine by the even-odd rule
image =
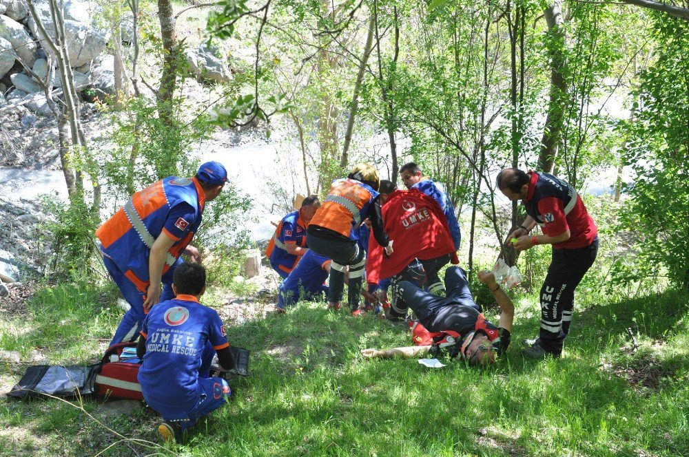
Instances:
[[[551,6],[545,10],[548,23],[548,55],[551,61],[551,89],[548,102],[548,114],[543,128],[541,152],[538,157],[537,168],[551,173],[557,157],[560,132],[564,122],[564,105],[567,97],[567,84],[564,78],[566,59],[564,56],[565,34],[562,30],[562,0],[553,0]]]

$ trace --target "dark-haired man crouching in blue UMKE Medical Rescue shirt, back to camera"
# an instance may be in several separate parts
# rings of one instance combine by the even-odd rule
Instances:
[[[181,442],[198,418],[225,404],[225,379],[210,377],[214,354],[224,370],[235,368],[218,312],[199,303],[206,270],[184,263],[174,271],[176,298],[157,304],[143,321],[136,354],[143,359],[138,382],[146,403],[163,416],[158,434]]]

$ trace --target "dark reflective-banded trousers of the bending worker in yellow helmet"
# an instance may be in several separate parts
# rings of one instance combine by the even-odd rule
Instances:
[[[332,259],[328,301],[339,302],[345,290],[345,266],[349,266],[347,302],[352,311],[359,309],[361,284],[366,266],[364,250],[351,240],[334,240],[307,233],[306,242],[314,253]]]

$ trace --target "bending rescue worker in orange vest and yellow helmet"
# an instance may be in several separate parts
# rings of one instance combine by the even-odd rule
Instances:
[[[309,249],[332,259],[329,308],[339,309],[342,290],[345,288],[345,271],[349,266],[348,302],[354,316],[361,314],[359,295],[366,265],[366,255],[356,241],[358,229],[364,219],[371,220],[373,237],[385,248],[386,255],[393,252],[392,241],[383,229],[378,203],[378,171],[369,164],[358,164],[347,179],[334,180],[330,193],[313,216],[307,229]]]

